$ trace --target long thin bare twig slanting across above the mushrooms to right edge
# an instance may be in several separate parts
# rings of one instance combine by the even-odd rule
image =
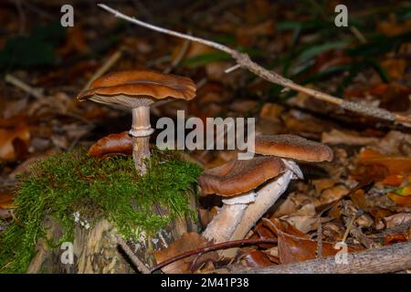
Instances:
[[[305,88],[297,83],[294,83],[292,80],[288,78],[283,78],[282,76],[280,76],[278,73],[274,71],[270,71],[266,68],[262,68],[257,63],[253,62],[247,54],[240,53],[237,50],[232,49],[230,47],[224,46],[222,44],[219,44],[219,43],[216,43],[210,40],[206,40],[204,38],[200,38],[196,36],[189,36],[189,35],[179,33],[174,30],[166,29],[160,26],[153,26],[151,24],[138,20],[134,17],[126,16],[122,14],[121,12],[119,12],[118,10],[112,9],[108,5],[99,4],[99,6],[100,8],[110,12],[114,16],[124,19],[135,25],[143,26],[143,27],[152,29],[154,31],[157,31],[157,32],[160,32],[166,35],[185,38],[193,42],[201,43],[201,44],[204,44],[205,46],[214,47],[220,51],[226,52],[227,54],[229,54],[231,57],[233,57],[237,61],[237,64],[239,66],[241,66],[242,68],[247,68],[250,72],[258,75],[260,78],[263,78],[271,83],[275,83],[275,84],[278,84],[279,86],[305,93],[314,99],[320,99],[323,101],[330,102],[332,104],[342,107],[342,109],[344,110],[351,110],[356,113],[360,113],[366,116],[370,116],[370,117],[374,117],[374,118],[378,118],[382,120],[400,122],[400,123],[403,123],[406,127],[411,127],[411,117],[392,113],[388,110],[376,108],[374,106],[364,105],[364,104],[353,102],[353,101],[339,99],[339,98],[333,97],[330,94],[323,93],[319,90]]]

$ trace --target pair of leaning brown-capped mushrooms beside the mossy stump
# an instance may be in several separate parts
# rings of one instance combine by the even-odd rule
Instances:
[[[332,150],[295,135],[259,135],[250,160],[235,160],[206,170],[198,179],[203,194],[223,197],[223,206],[207,225],[205,238],[222,243],[242,239],[287,190],[302,179],[298,164],[331,162]]]

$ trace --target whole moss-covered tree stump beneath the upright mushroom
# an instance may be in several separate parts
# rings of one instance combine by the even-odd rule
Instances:
[[[147,165],[140,177],[131,158],[84,151],[37,162],[20,178],[16,221],[0,233],[0,273],[135,272],[118,236],[153,266],[155,250],[197,228],[201,170],[172,151],[153,151]]]

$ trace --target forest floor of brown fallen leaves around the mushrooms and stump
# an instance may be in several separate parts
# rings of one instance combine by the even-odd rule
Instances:
[[[175,119],[177,110],[202,120],[256,118],[257,134],[295,134],[332,147],[332,162],[299,163],[304,180],[290,184],[250,235],[278,243],[242,246],[231,265],[277,266],[335,255],[337,242],[366,250],[409,241],[411,128],[283,90],[243,69],[225,73],[235,65],[227,54],[133,26],[94,3],[73,1],[75,26],[62,27],[59,8],[67,1],[60,2],[0,4],[0,235],[16,220],[17,177],[29,172],[30,163],[88,149],[130,129],[129,110],[76,99],[106,67],[153,68],[195,81],[195,99],[153,108],[153,125],[161,117]],[[407,1],[349,2],[350,27],[334,25],[334,1],[111,2],[106,4],[127,15],[247,52],[305,87],[411,113]],[[237,158],[237,151],[184,151],[184,157],[206,170]],[[205,227],[220,201],[202,197],[200,203]],[[193,250],[199,240],[187,234],[184,243],[191,244],[176,242],[161,258]],[[228,262],[215,252],[178,261],[168,271],[205,273]]]

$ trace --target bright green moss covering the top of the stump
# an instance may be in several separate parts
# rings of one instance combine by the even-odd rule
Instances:
[[[0,233],[0,272],[24,273],[35,253],[37,239],[45,237],[46,215],[58,220],[72,239],[74,213],[92,225],[107,218],[126,238],[144,231],[154,234],[175,217],[193,215],[189,192],[201,169],[181,161],[174,151],[153,151],[148,173],[138,176],[132,158],[98,160],[84,151],[61,153],[37,162],[20,178],[16,191],[16,218]],[[157,214],[155,208],[167,210]]]

